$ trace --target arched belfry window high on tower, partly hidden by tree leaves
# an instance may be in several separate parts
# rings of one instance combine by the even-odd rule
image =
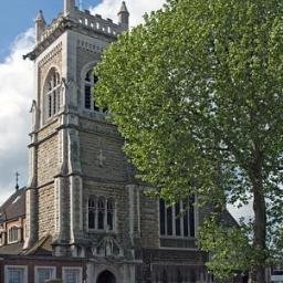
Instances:
[[[93,74],[93,70],[90,70],[84,77],[84,107],[85,109],[106,113],[107,109],[99,108],[95,102],[93,87],[97,82],[98,77]]]

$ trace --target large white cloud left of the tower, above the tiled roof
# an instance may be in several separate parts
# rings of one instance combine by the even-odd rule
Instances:
[[[0,63],[0,203],[14,189],[14,174],[20,185],[28,178],[29,109],[33,96],[33,63],[22,55],[34,45],[34,30],[14,40],[10,54]]]

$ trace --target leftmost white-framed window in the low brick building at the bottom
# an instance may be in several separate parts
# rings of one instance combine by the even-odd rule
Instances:
[[[28,266],[6,265],[4,283],[28,283]]]

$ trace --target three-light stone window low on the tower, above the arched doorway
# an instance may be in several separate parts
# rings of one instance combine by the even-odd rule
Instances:
[[[88,199],[88,229],[114,231],[115,202],[112,198],[91,197]]]

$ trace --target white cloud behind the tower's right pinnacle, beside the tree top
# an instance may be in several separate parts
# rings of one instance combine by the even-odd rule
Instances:
[[[127,0],[126,4],[129,11],[129,24],[135,27],[143,22],[143,15],[163,8],[165,0]],[[91,8],[92,13],[98,13],[103,18],[117,19],[122,0],[103,0],[98,6]]]

